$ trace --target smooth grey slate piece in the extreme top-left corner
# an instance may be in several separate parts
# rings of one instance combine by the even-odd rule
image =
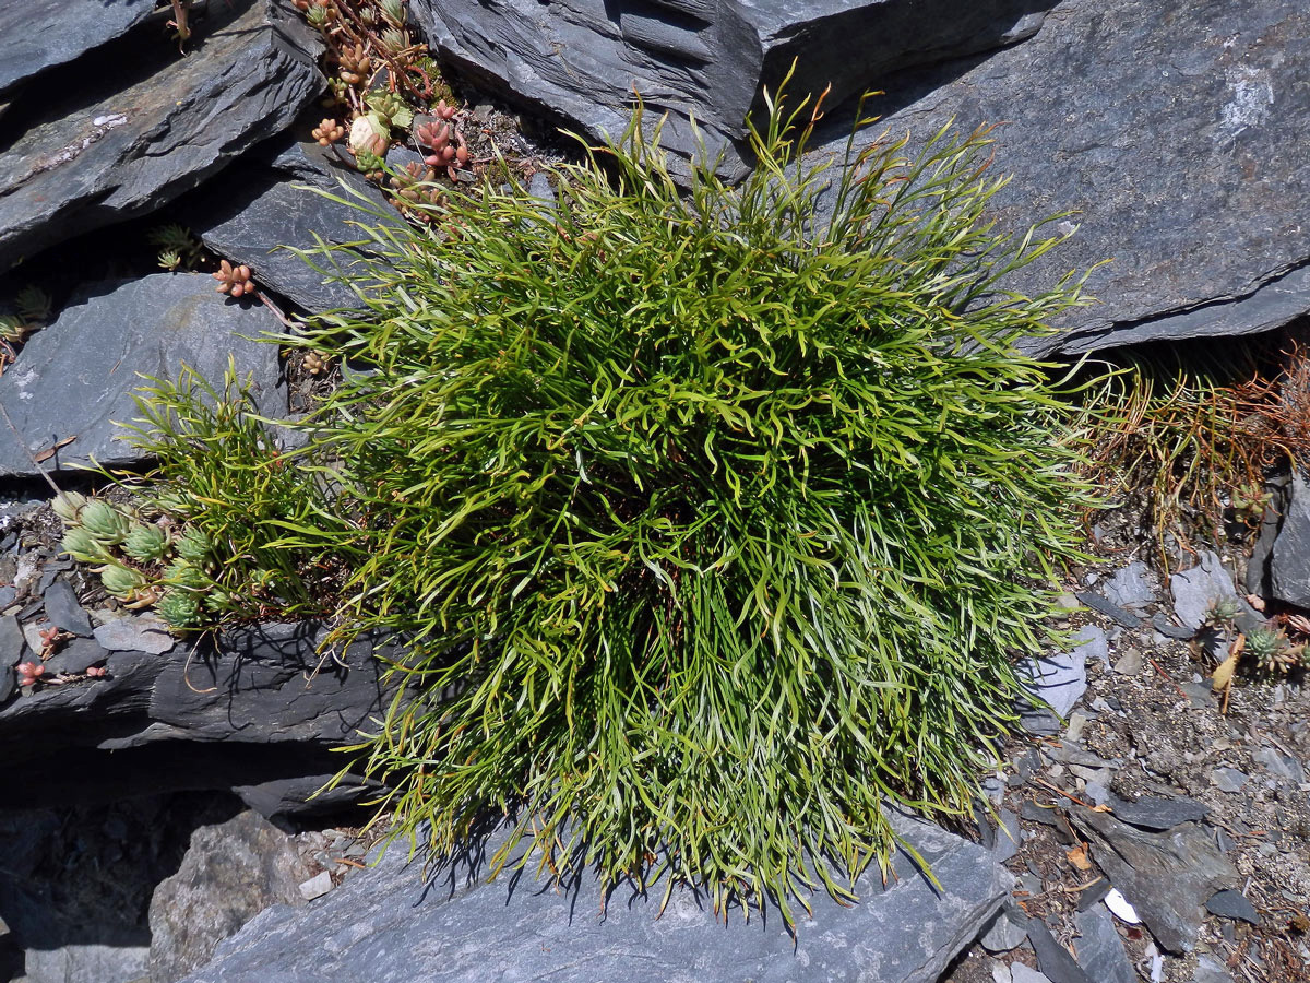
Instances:
[[[113,41],[151,16],[153,0],[0,4],[0,92]]]

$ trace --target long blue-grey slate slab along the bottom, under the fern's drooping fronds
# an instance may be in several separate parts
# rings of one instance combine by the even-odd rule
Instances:
[[[951,957],[998,910],[1013,878],[985,851],[935,826],[895,817],[943,885],[937,894],[905,855],[886,890],[875,872],[844,908],[814,899],[814,919],[786,932],[777,912],[724,927],[703,896],[675,891],[656,919],[659,894],[616,890],[600,916],[599,885],[574,890],[534,883],[512,891],[481,866],[441,872],[424,886],[422,864],[389,851],[369,870],[303,911],[270,908],[223,942],[189,983],[483,983],[489,979],[651,979],[668,983],[782,983],[861,979],[935,983]],[[503,840],[502,840],[503,841]],[[478,853],[490,856],[496,840]]]

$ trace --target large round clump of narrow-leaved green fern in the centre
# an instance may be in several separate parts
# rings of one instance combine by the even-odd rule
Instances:
[[[511,810],[557,858],[790,917],[886,866],[888,803],[964,810],[1014,721],[1085,498],[1015,346],[1078,283],[1006,288],[1056,240],[984,222],[985,132],[853,140],[838,174],[772,109],[736,187],[683,194],[638,114],[557,207],[452,193],[337,267],[363,313],[282,339],[372,370],[299,425],[331,497],[255,540],[343,571],[343,633],[411,640],[355,748],[400,832]],[[153,439],[207,501],[271,474]]]

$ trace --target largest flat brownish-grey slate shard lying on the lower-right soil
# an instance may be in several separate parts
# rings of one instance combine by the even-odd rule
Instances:
[[[1148,832],[1082,806],[1072,806],[1069,818],[1159,946],[1189,952],[1201,929],[1205,899],[1237,881],[1237,870],[1213,836],[1197,823]]]

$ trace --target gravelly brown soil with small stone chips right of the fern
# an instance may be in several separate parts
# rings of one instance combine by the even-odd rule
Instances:
[[[1201,642],[1166,637],[1151,624],[1155,616],[1174,625],[1178,619],[1169,577],[1159,569],[1157,540],[1141,531],[1140,510],[1095,518],[1091,549],[1098,562],[1072,571],[1070,595],[1099,591],[1116,570],[1140,560],[1148,565],[1141,581],[1150,586],[1151,600],[1129,608],[1141,617],[1138,628],[1085,604],[1058,623],[1068,629],[1100,628],[1107,658],[1087,659],[1087,691],[1058,735],[1014,738],[1003,748],[1009,764],[996,805],[1019,815],[1022,827],[1020,845],[1005,864],[1018,878],[1014,900],[1061,945],[1077,952],[1079,902],[1099,904],[1106,887],[1098,882],[1103,872],[1095,847],[1082,852],[1085,840],[1066,823],[1065,811],[1079,803],[1094,806],[1103,792],[1128,801],[1186,797],[1209,809],[1203,828],[1213,832],[1235,866],[1235,887],[1254,904],[1260,924],[1208,914],[1193,952],[1174,955],[1159,950],[1145,925],[1116,919],[1137,976],[1155,983],[1220,983],[1224,976],[1210,975],[1218,963],[1234,982],[1310,980],[1310,687],[1303,684],[1305,672],[1281,679],[1239,675],[1225,706],[1209,678],[1216,661]],[[1241,531],[1216,550],[1225,570],[1237,574],[1239,596],[1246,595],[1241,585],[1248,539]],[[1172,571],[1196,564],[1175,548],[1176,540],[1167,540]],[[1195,545],[1204,549],[1207,544]],[[1070,755],[1070,747],[1090,758]],[[1094,759],[1104,767],[1090,767]],[[1051,818],[1027,818],[1039,814]],[[996,836],[1005,838],[1003,830]],[[1009,980],[1002,967],[1011,963],[1038,966],[1028,942],[997,954],[975,942],[942,983]]]

